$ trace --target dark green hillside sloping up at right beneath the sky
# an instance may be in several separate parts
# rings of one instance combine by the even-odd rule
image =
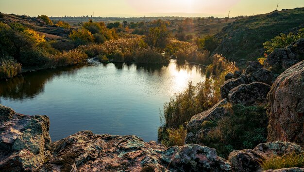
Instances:
[[[242,66],[264,55],[264,42],[280,33],[298,32],[302,28],[304,8],[244,17],[228,24],[216,35],[220,44],[213,54],[222,54]]]

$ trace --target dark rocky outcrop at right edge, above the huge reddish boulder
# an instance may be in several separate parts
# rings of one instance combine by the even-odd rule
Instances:
[[[286,70],[301,60],[304,60],[304,39],[285,48],[275,49],[264,61],[264,66]]]

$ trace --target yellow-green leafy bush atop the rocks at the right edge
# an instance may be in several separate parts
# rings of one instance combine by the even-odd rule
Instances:
[[[271,39],[271,41],[267,41],[263,43],[264,48],[267,49],[267,53],[271,53],[275,48],[284,48],[289,44],[297,41],[298,39],[304,38],[304,32],[299,32],[297,35],[292,32],[285,35],[281,33],[280,35]]]

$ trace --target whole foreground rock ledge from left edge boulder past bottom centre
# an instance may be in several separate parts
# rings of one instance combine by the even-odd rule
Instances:
[[[0,106],[0,171],[232,172],[213,148],[165,147],[136,136],[80,131],[51,143],[49,118],[16,114]]]

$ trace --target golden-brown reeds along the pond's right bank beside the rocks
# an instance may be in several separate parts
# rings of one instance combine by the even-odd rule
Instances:
[[[171,146],[168,143],[172,138],[168,129],[180,129],[185,127],[193,115],[201,113],[220,100],[220,86],[225,81],[225,75],[228,72],[238,70],[236,64],[226,60],[220,55],[212,57],[213,63],[207,68],[213,75],[209,76],[205,81],[193,86],[188,84],[187,89],[178,94],[175,99],[170,99],[164,104],[163,114],[160,115],[162,125],[158,129],[158,141]]]

